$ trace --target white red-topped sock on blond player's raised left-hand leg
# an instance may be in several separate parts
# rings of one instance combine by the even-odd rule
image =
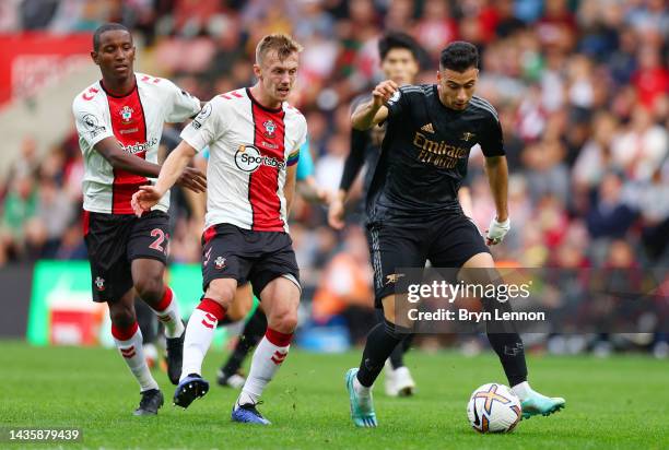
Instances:
[[[213,340],[216,324],[224,313],[225,310],[220,304],[206,298],[190,315],[184,339],[184,365],[179,381],[190,374],[202,374],[202,360]]]

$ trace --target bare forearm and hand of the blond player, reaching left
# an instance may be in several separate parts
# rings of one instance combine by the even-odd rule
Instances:
[[[189,182],[187,178],[191,173],[186,168],[195,154],[196,150],[186,141],[181,141],[165,159],[155,186],[140,186],[131,200],[132,209],[138,216],[144,211],[150,211],[177,181]],[[207,185],[203,187],[206,189]]]

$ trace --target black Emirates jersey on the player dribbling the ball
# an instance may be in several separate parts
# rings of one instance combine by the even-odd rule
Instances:
[[[367,196],[371,222],[461,214],[458,189],[469,152],[504,155],[495,108],[473,96],[463,110],[442,104],[435,84],[402,86],[388,100],[386,135]]]

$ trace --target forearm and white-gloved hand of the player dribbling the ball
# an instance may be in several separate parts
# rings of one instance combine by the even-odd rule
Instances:
[[[497,215],[493,217],[488,229],[488,245],[500,244],[510,228],[508,220],[507,192],[508,166],[506,156],[489,156],[485,158],[485,173],[488,182],[495,202]]]

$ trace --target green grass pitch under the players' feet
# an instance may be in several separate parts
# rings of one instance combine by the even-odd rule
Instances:
[[[644,356],[609,359],[529,357],[532,386],[566,398],[566,410],[532,417],[510,435],[479,435],[467,421],[470,393],[506,382],[496,356],[412,352],[407,362],[419,387],[409,399],[390,399],[383,375],[375,389],[379,427],[356,429],[349,417],[343,375],[360,351],[341,355],[292,351],[263,395],[270,427],[233,424],[237,392],[215,386],[222,352],[210,352],[204,399],[184,411],[172,406],[174,388],[156,379],[165,406],[156,417],[133,417],[139,389],[116,351],[31,347],[0,342],[0,427],[79,427],[81,443],[33,448],[221,449],[601,449],[669,447],[667,362]],[[25,448],[0,442],[0,448]]]

